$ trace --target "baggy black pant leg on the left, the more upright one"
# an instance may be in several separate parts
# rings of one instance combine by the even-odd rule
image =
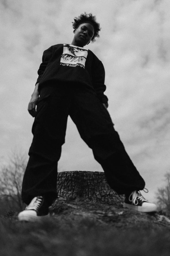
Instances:
[[[57,197],[57,162],[65,142],[70,102],[64,86],[43,88],[40,92],[30,157],[22,182],[22,200],[26,204],[43,195],[50,205]]]

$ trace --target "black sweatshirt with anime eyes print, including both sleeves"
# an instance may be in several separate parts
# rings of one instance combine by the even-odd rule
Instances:
[[[38,75],[36,84],[39,82],[39,88],[57,81],[90,87],[108,107],[108,98],[104,94],[105,69],[91,50],[71,44],[52,45],[43,53]]]

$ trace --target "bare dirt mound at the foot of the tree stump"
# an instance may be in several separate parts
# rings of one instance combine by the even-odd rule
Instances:
[[[154,225],[162,228],[170,228],[170,219],[166,213],[140,213],[127,208],[114,207],[100,202],[74,200],[63,202],[58,200],[55,208],[50,207],[50,214],[58,221],[90,218],[98,225],[114,226],[115,228],[139,228]]]

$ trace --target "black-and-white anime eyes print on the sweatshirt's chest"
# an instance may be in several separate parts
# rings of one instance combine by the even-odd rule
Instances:
[[[88,50],[85,50],[82,47],[77,47],[71,44],[64,44],[60,64],[69,67],[80,66],[82,68],[85,68],[87,55]]]

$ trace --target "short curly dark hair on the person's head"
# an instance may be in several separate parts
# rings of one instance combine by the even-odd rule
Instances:
[[[73,33],[75,33],[76,29],[79,27],[80,24],[85,23],[85,22],[89,22],[90,24],[92,24],[92,26],[94,27],[94,35],[91,39],[91,42],[94,43],[95,37],[100,37],[99,36],[99,31],[101,30],[100,24],[98,22],[96,22],[96,16],[92,16],[92,13],[87,14],[86,12],[84,12],[84,14],[80,14],[80,16],[75,17],[74,22],[73,23],[73,28],[74,31]]]

